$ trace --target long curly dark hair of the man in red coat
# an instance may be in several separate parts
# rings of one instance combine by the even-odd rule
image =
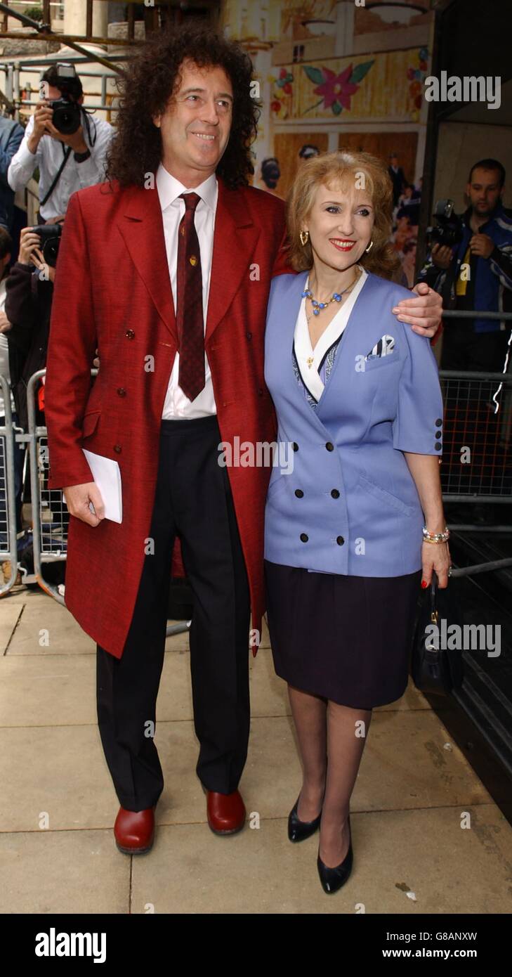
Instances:
[[[107,155],[106,179],[119,186],[142,187],[162,158],[161,130],[153,115],[164,112],[180,83],[180,65],[220,66],[234,93],[230,140],[217,167],[228,187],[246,186],[254,173],[250,145],[256,136],[261,105],[251,97],[253,65],[239,45],[210,27],[184,24],[156,31],[141,45],[118,82],[117,132]]]

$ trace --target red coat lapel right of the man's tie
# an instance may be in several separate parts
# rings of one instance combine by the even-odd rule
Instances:
[[[219,179],[205,342],[224,319],[242,280],[250,293],[250,259],[259,235],[243,192],[229,190]]]

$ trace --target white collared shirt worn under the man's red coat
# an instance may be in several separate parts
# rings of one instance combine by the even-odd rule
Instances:
[[[179,180],[171,176],[160,163],[156,171],[156,190],[162,209],[163,233],[169,277],[176,312],[176,278],[178,263],[178,228],[185,214],[185,200],[180,199],[181,193],[193,192],[200,196],[194,213],[194,227],[199,242],[202,275],[202,316],[203,328],[206,331],[206,314],[208,309],[208,295],[210,291],[210,277],[213,257],[213,234],[215,230],[215,213],[219,187],[215,173],[198,187],[184,187]],[[187,317],[187,310],[185,310]],[[206,353],[204,354],[205,384],[200,394],[191,402],[178,384],[180,369],[180,354],[176,354],[167,393],[162,410],[162,419],[171,420],[193,417],[207,417],[216,414],[217,407],[213,396],[213,384]]]

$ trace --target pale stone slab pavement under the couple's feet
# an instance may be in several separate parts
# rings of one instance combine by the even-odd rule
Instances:
[[[155,842],[133,858],[113,839],[94,642],[53,598],[18,586],[0,600],[0,646],[0,913],[510,912],[512,828],[411,684],[374,711],[351,805],[354,870],[327,896],[318,836],[286,836],[300,763],[268,634],[251,657],[240,784],[259,827],[218,837],[207,826],[188,635],[178,635],[167,639],[157,705]]]

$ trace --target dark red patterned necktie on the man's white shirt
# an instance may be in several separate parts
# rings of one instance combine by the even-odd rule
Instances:
[[[176,266],[176,324],[180,343],[178,383],[193,401],[204,387],[204,322],[202,318],[202,276],[199,242],[193,223],[201,199],[197,193],[180,193],[185,214],[178,229]]]

